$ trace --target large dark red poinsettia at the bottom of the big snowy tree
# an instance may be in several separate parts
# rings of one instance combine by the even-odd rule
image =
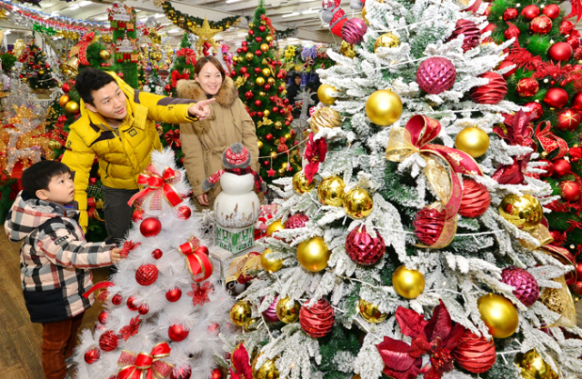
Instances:
[[[395,379],[413,379],[418,374],[425,374],[425,379],[440,379],[453,369],[451,353],[460,344],[465,327],[453,325],[442,300],[430,321],[402,306],[396,310],[396,321],[402,333],[412,337],[412,343],[385,336],[382,343],[376,344],[386,364],[384,374]],[[430,355],[430,362],[421,368],[424,354]]]

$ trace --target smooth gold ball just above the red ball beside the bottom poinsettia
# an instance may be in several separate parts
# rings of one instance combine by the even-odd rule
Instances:
[[[519,316],[514,304],[499,294],[484,294],[477,300],[481,320],[495,338],[507,338],[516,333]]]

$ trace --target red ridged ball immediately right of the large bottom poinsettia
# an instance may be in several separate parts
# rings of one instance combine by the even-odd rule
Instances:
[[[474,334],[466,329],[460,338],[460,344],[451,352],[455,362],[471,373],[485,373],[497,359],[493,338]]]

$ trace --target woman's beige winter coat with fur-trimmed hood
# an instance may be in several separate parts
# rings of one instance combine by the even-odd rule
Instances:
[[[180,80],[177,93],[184,99],[206,100],[206,94],[194,80]],[[251,167],[259,171],[255,124],[238,98],[231,78],[225,78],[215,98],[216,102],[210,104],[211,113],[206,120],[180,124],[182,151],[186,155],[184,167],[195,196],[204,193],[202,182],[206,177],[224,168],[222,154],[236,142],[245,145],[253,157]],[[220,185],[208,191],[211,207],[221,191]]]

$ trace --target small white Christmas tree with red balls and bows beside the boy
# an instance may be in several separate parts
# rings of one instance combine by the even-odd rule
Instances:
[[[141,220],[111,283],[96,284],[106,286],[105,311],[81,334],[76,377],[207,379],[225,364],[219,334],[230,333],[232,298],[210,277],[199,214],[171,149],[152,153],[140,184]]]

